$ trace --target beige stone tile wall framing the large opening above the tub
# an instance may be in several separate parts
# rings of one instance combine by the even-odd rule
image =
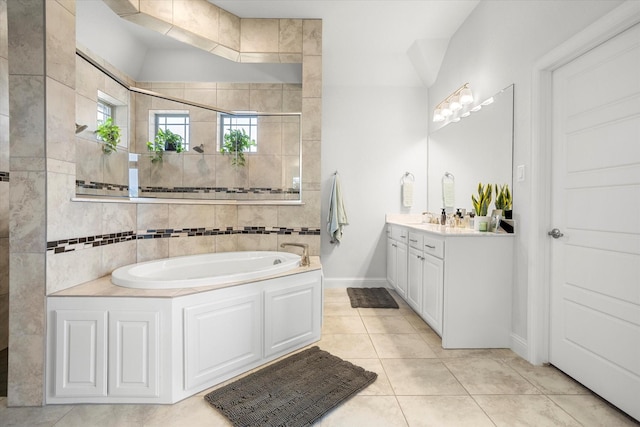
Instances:
[[[187,2],[177,4],[183,3]],[[4,7],[5,1],[0,0],[0,5]],[[9,406],[44,403],[47,294],[101,277],[121,265],[167,256],[276,250],[284,241],[306,242],[312,254],[320,253],[321,21],[280,20],[291,21],[285,29],[298,28],[300,33],[293,39],[301,47],[297,55],[303,62],[303,205],[134,204],[71,201],[77,174],[96,167],[80,164],[76,158],[99,148],[87,135],[75,135],[74,123],[85,120],[84,106],[94,96],[86,88],[95,82],[83,79],[100,77],[83,74],[77,63],[74,15],[73,0],[9,2],[9,55],[0,49],[0,76],[6,58],[12,58],[8,85],[2,86],[6,78],[0,77],[0,90],[8,86],[11,116],[18,118],[10,123],[9,160],[2,133],[6,108],[0,106],[0,172],[7,163],[6,172],[11,172],[9,207],[0,204],[0,242],[7,240],[8,228],[11,273]],[[251,21],[250,26],[259,20]],[[291,34],[285,34],[290,41]],[[286,46],[289,50],[291,43]],[[186,92],[185,87],[188,96]],[[208,95],[212,93],[205,89],[197,96]],[[129,125],[134,129],[134,124]],[[117,184],[120,175],[112,172],[113,179],[103,179]],[[0,191],[6,185],[1,180]],[[0,195],[6,200],[4,193]],[[8,227],[3,225],[7,214],[2,213],[7,210]],[[1,258],[0,268],[4,275]]]

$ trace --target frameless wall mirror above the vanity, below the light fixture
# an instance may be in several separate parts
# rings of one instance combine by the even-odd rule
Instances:
[[[454,206],[467,211],[478,182],[509,184],[513,189],[513,85],[492,98],[468,117],[429,134],[428,211],[439,213],[444,207],[446,173],[454,177]]]

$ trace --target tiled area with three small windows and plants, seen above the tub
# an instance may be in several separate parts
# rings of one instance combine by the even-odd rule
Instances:
[[[108,22],[113,26],[132,25],[121,22],[102,2],[83,2],[82,6],[77,14],[78,28],[86,27],[84,21],[91,17],[94,25],[85,33],[93,37],[101,34],[96,26],[106,25],[106,18],[111,19]],[[92,8],[99,7],[105,9],[104,14],[91,12]],[[100,19],[95,21],[96,17]],[[111,31],[104,28],[102,33]],[[83,40],[87,40],[86,37],[85,34]],[[163,42],[157,41],[162,37],[154,34],[152,39],[162,47]],[[129,45],[124,43],[120,47]],[[76,61],[76,121],[78,129],[82,129],[82,125],[87,128],[76,135],[76,196],[301,202],[300,80],[298,83],[132,82],[123,77],[124,70],[104,65],[106,61],[95,50],[82,46],[84,44],[80,43]],[[158,55],[156,51],[159,50],[149,55]],[[212,56],[195,48],[192,50],[207,56],[207,60]],[[193,64],[194,56],[189,61]],[[215,61],[226,60],[218,58]],[[203,62],[196,63],[198,65],[193,68],[206,68]],[[275,68],[280,65],[234,63],[233,70],[245,79],[252,78],[257,71],[275,73],[275,77],[278,74]],[[295,65],[301,74],[301,64],[287,64],[286,68],[291,65]],[[253,74],[243,74],[237,71],[239,67],[252,69]],[[294,77],[298,78],[297,75]],[[135,86],[149,90],[139,90]],[[103,144],[95,132],[96,111],[102,101],[111,108],[114,123],[121,131],[117,151],[110,154],[103,152]],[[251,139],[256,145],[244,153],[244,165],[234,164],[234,156],[220,152],[221,120],[225,113],[236,118],[248,115],[235,114],[214,105],[222,105],[228,110],[251,107],[260,111],[251,113],[254,117]],[[153,141],[156,134],[157,115],[182,115],[187,121],[183,133],[184,152],[165,151],[161,161],[147,147],[147,142]],[[243,128],[249,130],[247,126]]]

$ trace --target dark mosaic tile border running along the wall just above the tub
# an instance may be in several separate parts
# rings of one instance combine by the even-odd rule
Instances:
[[[99,234],[96,236],[52,240],[47,242],[47,252],[61,254],[132,240],[166,239],[176,237],[222,236],[248,234],[277,234],[298,236],[319,236],[321,230],[311,227],[198,227],[198,228],[159,228],[142,231],[124,231],[121,233]]]

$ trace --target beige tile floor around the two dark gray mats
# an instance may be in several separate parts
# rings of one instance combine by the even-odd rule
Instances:
[[[640,426],[553,367],[510,350],[444,350],[400,298],[400,309],[354,309],[327,289],[322,339],[330,353],[378,379],[320,420],[322,427]],[[204,391],[175,405],[7,408],[0,426],[229,426]]]

